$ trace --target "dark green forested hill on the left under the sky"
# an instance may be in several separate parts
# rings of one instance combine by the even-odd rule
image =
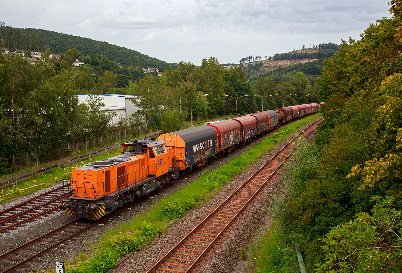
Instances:
[[[43,29],[19,29],[1,24],[0,39],[4,40],[4,45],[10,50],[18,48],[43,52],[49,48],[51,53],[62,54],[70,48],[76,48],[84,56],[92,57],[99,54],[124,66],[158,67],[160,71],[163,71],[170,65],[125,47]]]

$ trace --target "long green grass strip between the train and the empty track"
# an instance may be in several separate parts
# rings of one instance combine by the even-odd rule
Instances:
[[[247,169],[249,163],[258,161],[258,159],[269,152],[269,149],[276,147],[275,143],[286,139],[295,130],[316,118],[317,115],[309,116],[277,130],[275,136],[261,141],[260,144],[250,148],[226,165],[211,172],[204,171],[202,177],[186,185],[171,196],[164,198],[145,214],[138,215],[131,222],[107,230],[96,243],[96,246],[100,247],[96,249],[92,257],[86,260],[77,259],[76,265],[68,266],[66,273],[100,273],[113,268],[115,263],[117,263],[117,258],[115,257],[128,253],[127,251],[138,251],[151,242],[158,231],[167,232],[170,220],[177,219],[183,216],[187,210],[208,202],[215,193],[219,192],[224,183],[228,183],[234,175]],[[258,246],[254,245],[252,249],[256,252]],[[108,255],[105,253],[108,253]],[[253,259],[250,262],[250,266],[255,266],[257,262],[254,262],[256,254],[252,255],[254,256],[252,256]],[[244,253],[241,253],[241,256],[244,259]],[[99,262],[102,264],[99,265]],[[95,265],[98,266],[96,269]],[[100,269],[105,269],[105,271]]]

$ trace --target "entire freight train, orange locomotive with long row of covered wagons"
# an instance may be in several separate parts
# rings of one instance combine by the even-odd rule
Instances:
[[[285,122],[318,112],[320,105],[283,107],[127,142],[120,155],[74,168],[71,180],[62,180],[65,197],[60,209],[72,218],[98,220],[160,190],[195,166]]]

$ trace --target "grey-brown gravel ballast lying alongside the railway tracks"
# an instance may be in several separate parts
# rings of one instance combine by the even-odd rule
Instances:
[[[244,153],[250,147],[258,145],[263,139],[271,136],[271,134],[273,134],[273,132],[270,132],[261,139],[250,143],[246,147],[242,147],[241,149],[230,153],[226,157],[217,159],[209,166],[206,166],[205,169],[208,171],[217,169],[218,167],[228,163],[232,159]],[[283,143],[286,143],[286,141]],[[283,144],[281,143],[278,145],[278,147],[282,147],[282,145]],[[116,269],[111,270],[111,272],[123,273],[147,271],[147,267],[152,265],[154,261],[158,260],[159,256],[164,255],[164,251],[168,251],[169,247],[174,246],[176,242],[183,238],[187,231],[192,230],[194,226],[197,225],[197,222],[201,221],[204,216],[207,216],[211,210],[215,209],[218,204],[220,204],[241,183],[250,177],[252,173],[254,173],[260,166],[267,162],[267,160],[272,157],[277,150],[278,148],[269,151],[267,155],[264,155],[258,162],[251,165],[246,171],[243,171],[242,174],[235,176],[230,183],[224,184],[222,190],[213,196],[209,202],[199,206],[198,208],[190,210],[185,216],[172,224],[167,234],[162,234],[160,238],[156,237],[150,245],[141,251],[133,253],[132,255],[126,255],[124,259],[121,259],[121,264]],[[195,172],[189,175],[187,179],[178,181],[171,186],[162,189],[159,193],[156,192],[153,195],[155,198],[144,198],[144,200],[131,207],[131,209],[127,209],[118,216],[104,222],[104,225],[98,226],[88,232],[85,232],[84,234],[81,234],[80,237],[71,240],[69,244],[64,244],[59,246],[57,249],[54,249],[52,253],[42,255],[34,262],[28,264],[31,266],[30,268],[23,268],[21,270],[28,272],[36,269],[54,269],[55,261],[74,261],[74,259],[76,259],[76,257],[78,257],[82,251],[86,252],[85,249],[89,249],[90,246],[98,242],[99,238],[104,235],[106,230],[111,228],[113,229],[119,224],[129,222],[138,214],[144,214],[148,208],[152,207],[156,202],[167,196],[170,196],[174,192],[183,188],[185,185],[192,183],[201,176],[201,171]],[[58,185],[54,185],[51,188],[57,186]],[[253,205],[249,206],[244,217],[240,218],[241,220],[239,221],[239,224],[237,224],[234,230],[232,230],[231,234],[227,234],[228,238],[226,238],[225,241],[222,241],[222,245],[215,245],[215,247],[219,247],[218,250],[214,250],[216,254],[211,254],[211,259],[205,259],[207,264],[201,265],[204,269],[202,271],[197,270],[197,272],[235,272],[234,267],[240,260],[240,249],[242,249],[245,244],[252,240],[250,234],[254,234],[256,230],[260,229],[260,226],[269,225],[269,216],[263,209],[270,206],[267,198],[268,196],[270,196],[270,198],[277,198],[280,192],[278,189],[280,189],[280,187],[279,176],[277,176],[275,179],[273,179],[271,184],[267,185],[266,189],[264,190],[264,194],[261,195]],[[33,195],[39,195],[46,191],[49,191],[49,188],[42,189]],[[8,204],[4,204],[0,206],[0,208],[4,209],[14,204],[18,204],[23,200],[32,198],[33,195],[20,198]],[[258,220],[256,216],[260,218],[260,220]],[[71,221],[71,219],[64,212],[57,211],[50,216],[42,217],[36,221],[30,222],[29,224],[25,224],[24,227],[19,227],[18,230],[15,230],[10,234],[0,234],[0,251],[8,251],[16,245],[20,245],[31,240],[33,238],[32,234],[45,234],[46,232],[53,230],[53,228],[61,226],[69,221]],[[235,256],[239,259],[236,259]],[[236,272],[239,271],[236,270]]]

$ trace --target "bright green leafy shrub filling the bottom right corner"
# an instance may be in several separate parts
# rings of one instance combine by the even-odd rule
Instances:
[[[392,196],[371,198],[371,216],[361,212],[324,236],[326,261],[317,272],[402,272],[402,211]]]

